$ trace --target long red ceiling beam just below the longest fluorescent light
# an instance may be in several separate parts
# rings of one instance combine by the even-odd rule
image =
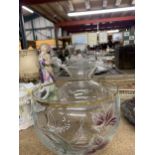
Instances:
[[[114,17],[114,18],[99,18],[99,19],[90,19],[90,20],[78,20],[78,21],[66,21],[60,22],[57,24],[59,27],[67,27],[67,26],[75,26],[82,24],[96,24],[102,22],[113,22],[113,21],[128,21],[135,20],[134,16],[126,16],[126,17]]]

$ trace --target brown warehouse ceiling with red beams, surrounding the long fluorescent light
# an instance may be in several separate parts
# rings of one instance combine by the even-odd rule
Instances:
[[[101,10],[134,6],[134,0],[22,0],[22,5],[34,10],[57,26],[70,30],[69,27],[88,24],[133,23],[135,11],[69,17],[70,12]],[[107,20],[105,20],[107,19]],[[131,23],[129,22],[131,21]],[[120,25],[120,24],[119,24]],[[124,24],[126,25],[126,24]],[[103,26],[104,27],[104,26]]]

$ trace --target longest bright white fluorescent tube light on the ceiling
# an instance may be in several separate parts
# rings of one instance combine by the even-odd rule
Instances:
[[[104,10],[93,10],[93,11],[83,11],[83,12],[71,12],[68,13],[68,16],[86,16],[86,15],[96,15],[96,14],[105,14],[113,12],[123,12],[123,11],[132,11],[135,10],[135,7],[125,7],[125,8],[114,8],[114,9],[104,9]]]

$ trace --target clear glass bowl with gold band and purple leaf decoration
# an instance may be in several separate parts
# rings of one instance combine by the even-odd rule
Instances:
[[[58,155],[89,155],[111,141],[120,119],[116,89],[91,79],[95,63],[69,62],[71,76],[61,87],[52,83],[33,91],[33,118],[43,144]]]

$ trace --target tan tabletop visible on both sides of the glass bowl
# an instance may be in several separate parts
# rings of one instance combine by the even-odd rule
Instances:
[[[19,132],[20,155],[55,155],[41,144],[34,128],[30,127]],[[135,128],[124,117],[121,117],[119,128],[113,140],[97,155],[134,155]]]

